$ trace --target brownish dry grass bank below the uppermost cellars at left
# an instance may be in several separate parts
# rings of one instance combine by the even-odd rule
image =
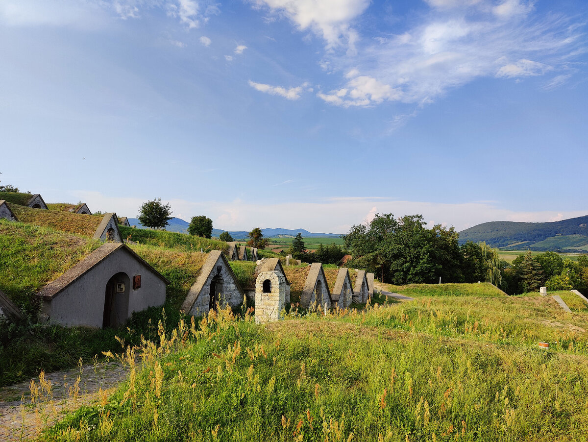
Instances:
[[[93,236],[102,222],[102,217],[81,213],[58,212],[57,210],[32,209],[31,207],[9,205],[16,218],[22,223],[51,227],[75,235]]]

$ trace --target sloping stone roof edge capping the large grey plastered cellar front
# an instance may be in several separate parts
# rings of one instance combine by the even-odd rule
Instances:
[[[148,267],[153,273],[156,274],[159,279],[161,279],[166,284],[169,284],[169,281],[157,270],[153,269],[151,264],[146,262],[141,256],[137,255],[133,250],[124,245],[119,243],[105,243],[100,246],[98,249],[94,250],[90,255],[88,255],[82,262],[79,262],[74,267],[71,267],[67,270],[64,274],[59,276],[54,281],[47,284],[37,296],[42,297],[43,300],[51,300],[59,293],[61,293],[69,284],[75,282],[84,274],[88,273],[94,266],[101,263],[103,260],[106,259],[111,253],[115,252],[118,249],[125,250],[125,252],[130,253],[136,260],[141,262],[145,267]]]

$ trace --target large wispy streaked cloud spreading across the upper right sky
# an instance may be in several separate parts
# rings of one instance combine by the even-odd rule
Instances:
[[[342,72],[343,79],[331,90],[323,86],[318,97],[343,107],[383,102],[425,105],[477,78],[509,81],[546,73],[560,75],[562,71],[566,71],[562,75],[569,75],[567,63],[574,54],[586,51],[580,26],[572,18],[535,14],[533,1],[427,3],[429,14],[402,34],[382,33],[366,39],[359,33],[357,55],[326,51],[323,69]],[[271,4],[280,7],[276,6],[278,0]],[[320,8],[312,10],[314,14]],[[287,15],[296,23],[311,26],[313,15],[297,15],[296,11]],[[300,18],[307,15],[306,21]],[[350,26],[352,14],[342,17],[342,22]],[[328,43],[333,41],[327,34],[323,38]],[[556,85],[554,81],[551,87]]]

